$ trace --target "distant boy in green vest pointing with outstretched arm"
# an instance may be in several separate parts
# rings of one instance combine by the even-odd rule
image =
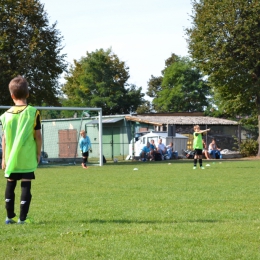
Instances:
[[[194,133],[193,133],[193,149],[195,152],[194,155],[194,166],[193,170],[197,169],[197,160],[199,159],[200,168],[204,170],[202,166],[202,150],[203,150],[203,143],[202,143],[202,135],[205,132],[210,131],[210,129],[200,130],[199,125],[194,126]]]

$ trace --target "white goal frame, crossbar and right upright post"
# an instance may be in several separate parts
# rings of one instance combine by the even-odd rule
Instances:
[[[0,106],[2,110],[8,110],[11,106]],[[102,145],[102,108],[92,107],[39,107],[34,106],[39,111],[41,110],[67,110],[67,111],[97,111],[98,112],[98,124],[99,124],[99,166],[103,166],[103,145]]]

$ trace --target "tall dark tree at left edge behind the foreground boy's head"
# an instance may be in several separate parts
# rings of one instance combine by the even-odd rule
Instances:
[[[61,41],[38,0],[0,0],[0,104],[13,104],[8,84],[17,75],[29,82],[29,103],[59,104],[58,79],[67,66]]]

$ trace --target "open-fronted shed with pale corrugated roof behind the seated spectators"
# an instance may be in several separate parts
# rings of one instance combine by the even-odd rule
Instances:
[[[139,124],[135,126],[136,132],[155,130],[167,131],[169,134],[179,133],[189,137],[187,149],[192,149],[193,126],[200,125],[201,129],[210,128],[211,131],[205,134],[204,139],[207,144],[213,138],[222,149],[233,150],[235,138],[241,140],[241,126],[237,121],[223,118],[204,116],[201,112],[193,113],[149,113],[133,114],[125,116],[129,122]]]

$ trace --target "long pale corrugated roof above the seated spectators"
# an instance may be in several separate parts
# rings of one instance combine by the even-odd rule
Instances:
[[[134,115],[126,116],[126,120],[153,125],[238,125],[237,121],[208,117],[208,116],[183,116],[183,115]]]

